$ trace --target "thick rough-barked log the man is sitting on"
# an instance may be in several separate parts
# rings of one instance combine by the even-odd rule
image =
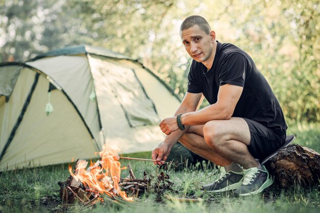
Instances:
[[[269,172],[281,188],[312,187],[320,180],[320,154],[300,145],[289,145],[269,160]]]

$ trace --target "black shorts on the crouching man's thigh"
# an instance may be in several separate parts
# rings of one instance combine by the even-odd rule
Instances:
[[[264,159],[276,152],[285,143],[286,134],[277,135],[271,129],[250,119],[244,119],[244,121],[249,126],[251,136],[248,150],[254,158]]]

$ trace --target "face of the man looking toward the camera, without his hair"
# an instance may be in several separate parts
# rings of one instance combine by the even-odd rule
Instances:
[[[195,61],[205,62],[212,56],[215,39],[215,35],[212,32],[207,35],[198,25],[180,32],[186,51]]]

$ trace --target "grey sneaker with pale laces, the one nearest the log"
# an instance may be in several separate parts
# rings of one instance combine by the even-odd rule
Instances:
[[[273,183],[268,170],[262,165],[263,170],[257,167],[243,170],[244,179],[242,185],[234,191],[235,196],[247,196],[261,193]]]

